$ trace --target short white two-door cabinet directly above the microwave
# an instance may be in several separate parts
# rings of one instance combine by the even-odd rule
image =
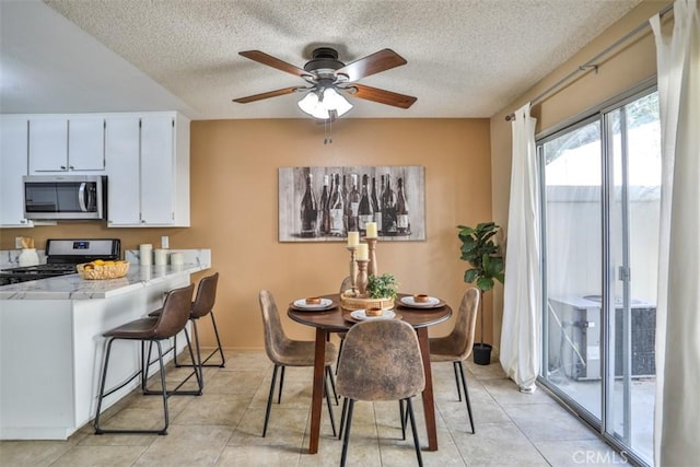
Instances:
[[[101,116],[30,118],[30,173],[105,170],[105,120]]]

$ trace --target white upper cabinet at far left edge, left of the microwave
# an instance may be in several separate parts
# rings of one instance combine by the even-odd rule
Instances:
[[[27,227],[22,176],[28,173],[28,120],[3,116],[0,120],[0,226]]]

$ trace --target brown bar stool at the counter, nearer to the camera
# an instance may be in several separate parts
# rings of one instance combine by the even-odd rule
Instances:
[[[121,325],[117,328],[108,330],[103,334],[107,340],[107,348],[105,351],[105,360],[102,372],[102,382],[100,385],[100,396],[97,399],[97,412],[95,415],[95,434],[103,433],[158,433],[158,434],[167,434],[167,425],[168,425],[168,410],[167,410],[167,398],[172,395],[199,395],[200,392],[189,392],[189,390],[178,390],[192,375],[197,378],[198,383],[201,385],[201,381],[199,381],[199,372],[197,370],[192,371],[183,382],[180,382],[174,389],[167,390],[165,386],[165,365],[163,363],[163,347],[161,345],[162,340],[170,339],[175,337],[178,332],[180,332],[185,325],[187,324],[187,319],[189,317],[189,308],[192,300],[192,292],[195,290],[194,284],[189,284],[187,287],[172,290],[165,296],[165,302],[163,303],[162,313],[159,316],[149,316],[145,318],[140,318]],[[185,335],[187,338],[187,348],[189,349],[189,357],[195,359],[192,353],[192,348],[189,342],[189,337],[187,334]],[[109,389],[105,393],[105,381],[107,378],[107,367],[109,364],[109,353],[112,352],[112,345],[115,340],[136,340],[141,342],[141,367],[139,371],[131,376],[125,383],[121,383],[119,386]],[[148,357],[145,355],[145,342],[149,342],[149,352]],[[161,375],[161,389],[160,390],[150,390],[147,387],[148,377],[149,377],[149,366],[151,360],[151,348],[155,343],[158,348],[158,362]],[[105,430],[100,427],[100,416],[102,409],[102,401],[105,397],[109,396],[114,392],[126,386],[130,382],[132,382],[136,377],[141,376],[141,392],[144,395],[155,395],[159,394],[163,397],[163,415],[164,415],[164,425],[162,429],[156,430],[138,430],[138,429],[109,429]]]

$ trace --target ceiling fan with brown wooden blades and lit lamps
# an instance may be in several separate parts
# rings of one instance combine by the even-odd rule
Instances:
[[[417,100],[413,96],[370,87],[355,82],[362,78],[406,65],[406,60],[400,55],[388,48],[346,65],[338,60],[338,51],[336,49],[318,47],[314,49],[312,59],[304,65],[304,68],[295,67],[260,50],[246,50],[238,52],[238,55],[268,67],[295,74],[307,83],[305,86],[283,87],[233,100],[233,102],[240,104],[295,92],[306,93],[299,102],[299,107],[303,112],[317,119],[334,119],[352,108],[352,105],[342,97],[342,94],[400,108],[409,108]]]

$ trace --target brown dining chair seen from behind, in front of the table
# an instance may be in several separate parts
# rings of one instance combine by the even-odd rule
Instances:
[[[358,323],[348,331],[336,382],[343,396],[345,430],[340,465],[346,465],[355,400],[399,400],[406,404],[413,432],[418,465],[420,453],[411,398],[425,387],[423,360],[416,330],[406,322],[380,319]]]

